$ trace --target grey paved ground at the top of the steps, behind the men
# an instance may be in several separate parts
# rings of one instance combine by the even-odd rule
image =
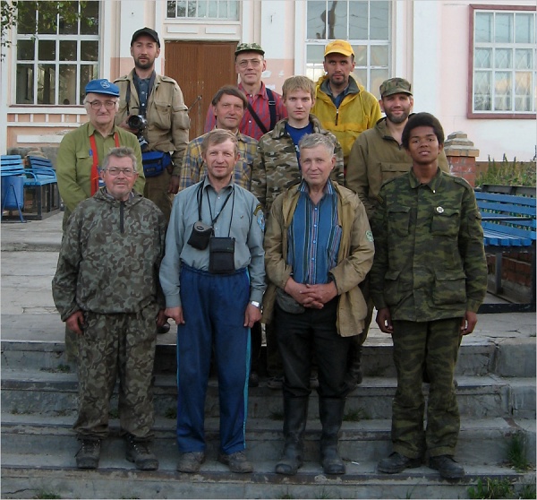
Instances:
[[[64,326],[55,310],[50,283],[55,273],[57,254],[62,240],[63,213],[46,220],[25,224],[1,225],[1,326],[3,340],[63,341]],[[487,301],[499,298],[488,296]],[[159,335],[159,343],[175,340],[172,332]],[[477,337],[535,337],[534,313],[480,315],[472,342]],[[386,341],[388,336],[371,328],[370,339]]]

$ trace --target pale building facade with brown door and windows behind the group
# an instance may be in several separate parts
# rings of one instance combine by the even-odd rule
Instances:
[[[447,134],[464,131],[479,160],[531,160],[537,148],[536,12],[533,0],[121,0],[72,2],[79,22],[42,25],[24,1],[4,48],[0,150],[59,144],[81,125],[85,83],[132,69],[132,32],[158,31],[157,71],[183,89],[191,139],[202,133],[215,91],[236,82],[234,47],[266,51],[263,81],[276,91],[294,74],[317,79],[325,45],[348,39],[355,76],[379,95],[402,76],[414,110],[438,116]],[[34,35],[37,26],[37,36]]]

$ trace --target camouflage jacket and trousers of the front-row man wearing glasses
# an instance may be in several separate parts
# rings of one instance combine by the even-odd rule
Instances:
[[[139,440],[151,437],[165,236],[166,220],[154,203],[140,194],[119,202],[105,188],[79,203],[68,222],[52,292],[63,321],[77,311],[84,315],[74,425],[81,437],[107,436],[117,375],[122,430]]]

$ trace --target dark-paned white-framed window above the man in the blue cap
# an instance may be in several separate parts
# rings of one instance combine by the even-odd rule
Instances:
[[[52,4],[52,3],[51,3]],[[98,2],[72,2],[80,19],[39,14],[19,2],[17,104],[80,105],[86,83],[98,77]]]

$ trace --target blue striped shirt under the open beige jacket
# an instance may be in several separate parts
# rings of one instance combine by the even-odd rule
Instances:
[[[287,229],[287,263],[297,283],[323,284],[337,264],[342,228],[337,218],[337,193],[328,180],[324,195],[315,205],[302,181],[291,225]]]

